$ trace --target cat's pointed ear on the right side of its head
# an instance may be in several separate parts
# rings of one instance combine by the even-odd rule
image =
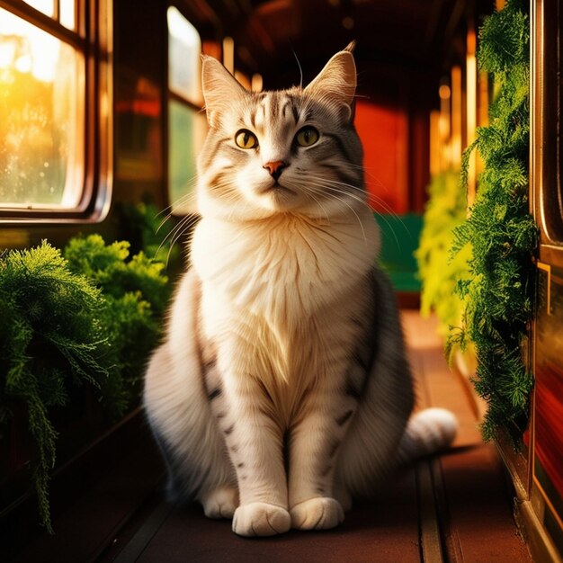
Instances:
[[[331,58],[317,77],[305,88],[305,94],[322,96],[348,108],[348,121],[353,120],[356,92],[356,64],[353,60],[352,41],[346,49]]]

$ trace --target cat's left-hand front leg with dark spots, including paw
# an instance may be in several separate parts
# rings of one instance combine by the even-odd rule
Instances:
[[[258,380],[228,373],[224,380],[227,414],[219,420],[230,459],[237,471],[240,505],[233,532],[269,536],[291,527],[282,431],[271,415]]]

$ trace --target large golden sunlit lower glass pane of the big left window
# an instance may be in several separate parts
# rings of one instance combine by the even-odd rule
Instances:
[[[81,53],[0,8],[0,207],[78,205],[84,76]]]

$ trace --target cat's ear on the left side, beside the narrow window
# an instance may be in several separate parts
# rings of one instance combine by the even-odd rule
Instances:
[[[207,121],[211,127],[217,126],[220,115],[228,112],[234,101],[244,98],[247,94],[245,88],[219,60],[207,55],[201,56],[201,90]]]

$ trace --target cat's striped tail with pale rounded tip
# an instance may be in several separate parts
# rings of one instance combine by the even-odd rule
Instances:
[[[409,418],[398,446],[401,463],[447,448],[458,433],[458,419],[445,408],[425,408]]]

